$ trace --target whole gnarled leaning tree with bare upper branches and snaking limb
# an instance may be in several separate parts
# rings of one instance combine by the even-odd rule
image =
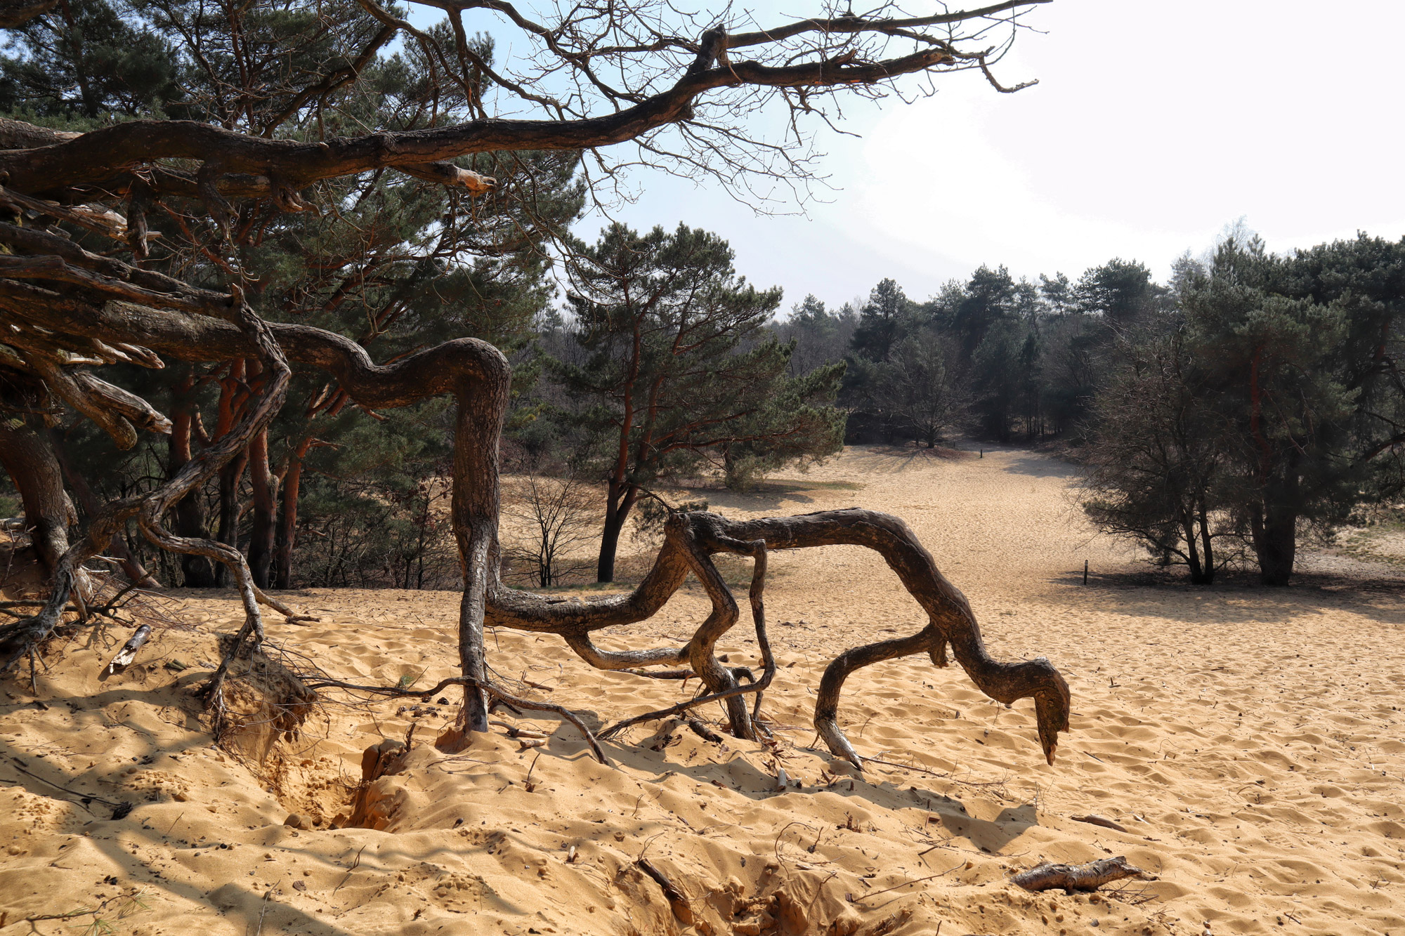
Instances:
[[[87,597],[83,564],[124,524],[135,523],[160,548],[223,564],[239,586],[247,620],[207,687],[211,703],[219,704],[221,682],[239,646],[263,639],[260,604],[291,611],[256,587],[239,550],[177,535],[164,521],[181,498],[247,450],[278,412],[291,364],[299,364],[326,372],[340,392],[368,410],[433,395],[452,396],[457,405],[451,510],[464,593],[462,676],[452,682],[464,686],[462,731],[486,729],[488,697],[502,696],[485,668],[483,628],[489,624],[559,634],[603,669],[695,673],[707,691],[684,706],[722,700],[732,732],[754,736],[756,710],[749,711],[746,697],[759,700],[776,672],[762,603],[766,557],[771,550],[850,544],[877,550],[929,620],[910,637],[857,646],[829,665],[815,724],[830,749],[861,763],[837,725],[839,693],[850,672],[912,654],[946,665],[950,646],[988,696],[1005,703],[1034,698],[1040,741],[1052,763],[1057,732],[1068,731],[1066,683],[1043,658],[993,659],[965,597],[896,517],[860,509],[749,521],[674,513],[652,571],[629,594],[561,602],[504,587],[497,540],[499,436],[511,377],[504,356],[485,342],[457,339],[375,364],[361,344],[340,334],[257,315],[247,298],[251,284],[237,263],[237,247],[256,239],[268,218],[318,209],[327,180],[354,174],[398,171],[486,194],[497,183],[471,169],[483,164],[475,160],[503,164],[513,155],[565,150],[583,153],[582,171],[590,184],[610,184],[632,164],[710,173],[740,197],[756,194],[757,180],[804,181],[812,157],[805,126],[835,119],[842,93],[870,98],[922,93],[937,76],[961,70],[979,72],[999,91],[1023,87],[1002,87],[992,66],[1020,28],[1019,15],[1048,0],[1006,0],[924,15],[909,15],[894,3],[864,14],[826,4],[815,18],[767,28],[753,28],[739,14],[729,13],[725,21],[684,14],[666,0],[544,4],[545,15],[507,0],[420,1],[444,11],[447,27],[423,31],[403,20],[398,7],[357,0],[377,28],[367,31],[360,52],[306,72],[303,87],[281,91],[280,115],[296,118],[284,124],[260,128],[240,122],[237,114],[223,124],[133,119],[83,134],[0,124],[0,205],[8,212],[0,222],[0,402],[6,408],[0,454],[22,498],[35,562],[51,582],[38,611],[0,625],[0,669],[27,655],[32,659],[66,610],[81,610]],[[7,0],[0,24],[22,22],[52,6],[53,0]],[[481,39],[469,38],[468,25],[511,34],[497,48],[510,46],[514,58],[496,62]],[[420,51],[436,80],[471,101],[476,117],[400,132],[320,134],[323,105],[398,37]],[[237,82],[237,73],[229,80]],[[787,128],[783,139],[753,124],[770,110],[778,111],[774,125]],[[471,214],[471,202],[462,204]],[[148,218],[156,212],[183,219],[190,264],[157,268],[149,261]],[[202,277],[183,273],[197,267]],[[259,361],[249,371],[254,377],[247,381],[249,405],[239,422],[153,490],[103,506],[70,540],[62,475],[35,426],[66,405],[118,446],[131,447],[139,429],[169,431],[170,420],[90,368],[237,358]],[[719,552],[754,561],[750,610],[764,668],[749,683],[740,683],[714,654],[739,618],[736,600],[711,561]],[[600,628],[656,613],[690,572],[707,590],[712,611],[686,645],[611,652],[592,642]],[[686,669],[646,669],[660,665]]]

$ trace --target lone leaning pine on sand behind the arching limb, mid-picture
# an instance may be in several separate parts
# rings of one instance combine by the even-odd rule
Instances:
[[[794,350],[766,332],[780,290],[738,277],[725,240],[686,225],[641,235],[610,225],[577,245],[568,301],[584,351],[554,370],[589,401],[582,422],[607,444],[597,578],[614,580],[620,533],[639,492],[721,455],[735,476],[839,450],[830,403],[843,364],[788,377]]]

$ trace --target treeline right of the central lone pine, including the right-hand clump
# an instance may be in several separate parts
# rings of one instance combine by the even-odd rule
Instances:
[[[1196,583],[1249,557],[1284,585],[1305,531],[1405,490],[1405,242],[1273,256],[1235,232],[1168,285],[1123,259],[982,266],[926,302],[884,280],[853,320],[843,356],[813,297],[776,326],[847,360],[850,440],[1061,436],[1089,517]]]

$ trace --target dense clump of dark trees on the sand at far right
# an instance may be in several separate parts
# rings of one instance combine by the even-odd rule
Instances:
[[[1120,343],[1097,394],[1089,514],[1194,582],[1234,537],[1287,585],[1304,530],[1402,489],[1402,315],[1405,242],[1273,256],[1231,238],[1182,263],[1173,309]]]

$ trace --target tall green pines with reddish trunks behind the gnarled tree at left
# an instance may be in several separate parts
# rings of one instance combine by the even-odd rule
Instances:
[[[447,31],[440,24],[431,34],[452,42]],[[80,129],[184,117],[291,139],[419,129],[476,114],[473,84],[441,83],[420,45],[389,52],[391,37],[355,3],[72,0],[11,34],[0,107]],[[466,42],[492,62],[490,39]],[[240,239],[237,257],[250,305],[266,319],[346,334],[379,360],[464,336],[509,353],[525,347],[554,297],[542,245],[583,205],[577,155],[507,153],[465,164],[500,183],[472,211],[458,190],[375,171],[320,184],[306,195],[312,211],[235,218],[256,235]],[[195,218],[145,221],[164,235],[152,242],[149,267],[221,282],[216,252],[200,249],[205,235]],[[259,379],[253,364],[114,368],[119,384],[173,402],[174,430],[164,443],[143,436],[136,450],[118,453],[91,423],[74,420],[58,440],[81,465],[74,476],[108,496],[160,483],[229,430]],[[521,378],[531,379],[530,365]],[[218,483],[177,505],[171,528],[246,550],[264,587],[450,587],[458,564],[438,481],[447,420],[434,401],[368,416],[326,378],[299,371],[274,424]],[[223,579],[204,558],[173,559],[135,535],[128,545],[160,565],[163,582]]]

